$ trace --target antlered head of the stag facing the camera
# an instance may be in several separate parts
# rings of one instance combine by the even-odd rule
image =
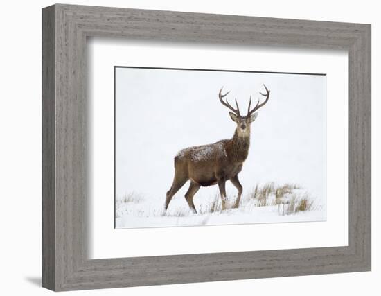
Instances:
[[[263,103],[259,103],[260,100],[258,98],[258,103],[256,103],[256,105],[254,106],[253,109],[250,110],[250,107],[251,107],[251,96],[250,96],[250,101],[249,101],[249,107],[247,107],[247,115],[246,116],[242,116],[240,114],[240,108],[238,107],[238,103],[237,103],[237,99],[236,99],[236,109],[233,108],[229,102],[227,101],[224,101],[223,98],[225,96],[227,96],[227,94],[229,94],[229,92],[227,92],[226,94],[222,94],[222,88],[220,89],[220,93],[218,94],[218,98],[220,98],[220,102],[222,103],[222,105],[224,105],[225,107],[228,107],[229,110],[233,111],[233,112],[229,112],[229,115],[231,117],[231,119],[237,123],[237,128],[236,128],[236,132],[238,134],[238,137],[249,137],[250,135],[250,126],[251,126],[251,123],[253,121],[256,120],[256,117],[258,116],[258,112],[256,112],[260,107],[263,107],[267,101],[269,101],[269,96],[270,96],[270,91],[269,89],[267,89],[266,85],[263,85],[266,89],[266,94],[263,94],[261,92],[259,92],[262,96],[265,96],[265,101],[263,101]]]

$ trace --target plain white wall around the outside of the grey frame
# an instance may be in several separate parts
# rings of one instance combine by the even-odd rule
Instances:
[[[203,284],[92,290],[76,295],[379,295],[381,259],[380,81],[381,20],[377,1],[66,1],[73,4],[181,10],[230,15],[284,17],[372,24],[373,51],[373,271]],[[39,287],[41,266],[41,8],[53,1],[7,1],[1,6],[0,180],[1,294],[46,295]],[[374,182],[375,181],[375,182]]]

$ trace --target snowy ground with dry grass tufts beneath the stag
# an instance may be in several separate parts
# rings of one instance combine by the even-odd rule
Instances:
[[[216,193],[211,198],[195,195],[197,214],[190,211],[184,196],[175,195],[167,211],[163,210],[163,198],[145,198],[139,193],[130,193],[116,198],[116,228],[135,227],[174,227],[191,225],[227,225],[242,223],[286,223],[326,220],[325,207],[316,203],[303,189],[292,189],[276,201],[274,193],[265,200],[266,206],[259,206],[261,201],[253,198],[253,193],[242,195],[238,209],[221,211],[221,202]],[[231,195],[233,204],[236,196]],[[301,199],[312,202],[309,210],[296,211]],[[262,200],[263,202],[263,200]],[[263,203],[262,203],[263,204]]]

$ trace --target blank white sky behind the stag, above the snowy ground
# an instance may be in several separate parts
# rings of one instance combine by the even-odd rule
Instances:
[[[251,125],[249,157],[240,173],[247,193],[257,183],[296,183],[326,198],[326,76],[116,68],[116,196],[135,191],[165,200],[173,157],[182,148],[233,136],[236,123],[218,101],[224,86],[246,114],[271,90]],[[229,182],[227,182],[229,183]],[[188,184],[175,195],[183,198]],[[227,191],[234,192],[227,185]],[[202,187],[195,198],[218,192]]]

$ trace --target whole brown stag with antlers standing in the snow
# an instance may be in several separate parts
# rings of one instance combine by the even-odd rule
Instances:
[[[193,196],[201,186],[213,186],[218,184],[222,210],[227,209],[227,193],[225,191],[225,183],[227,180],[230,180],[233,186],[238,190],[238,196],[236,202],[233,204],[233,208],[239,207],[243,188],[240,184],[238,174],[242,171],[243,162],[245,162],[249,154],[251,123],[253,123],[258,116],[258,112],[256,111],[269,101],[270,96],[269,89],[267,89],[266,85],[263,86],[265,87],[266,93],[263,94],[259,92],[259,94],[264,96],[265,100],[263,103],[260,103],[260,99],[258,98],[258,103],[256,103],[253,109],[250,109],[250,96],[246,116],[240,114],[237,99],[235,100],[236,108],[229,104],[227,98],[226,101],[224,101],[224,98],[229,92],[222,94],[223,87],[221,87],[218,94],[220,103],[230,110],[230,118],[236,123],[236,130],[233,137],[209,145],[188,147],[177,153],[174,159],[175,177],[173,178],[172,186],[170,186],[170,189],[166,193],[165,211],[168,209],[172,197],[188,180],[190,180],[190,185],[185,194],[185,199],[194,214],[197,214],[197,210],[193,203]]]

